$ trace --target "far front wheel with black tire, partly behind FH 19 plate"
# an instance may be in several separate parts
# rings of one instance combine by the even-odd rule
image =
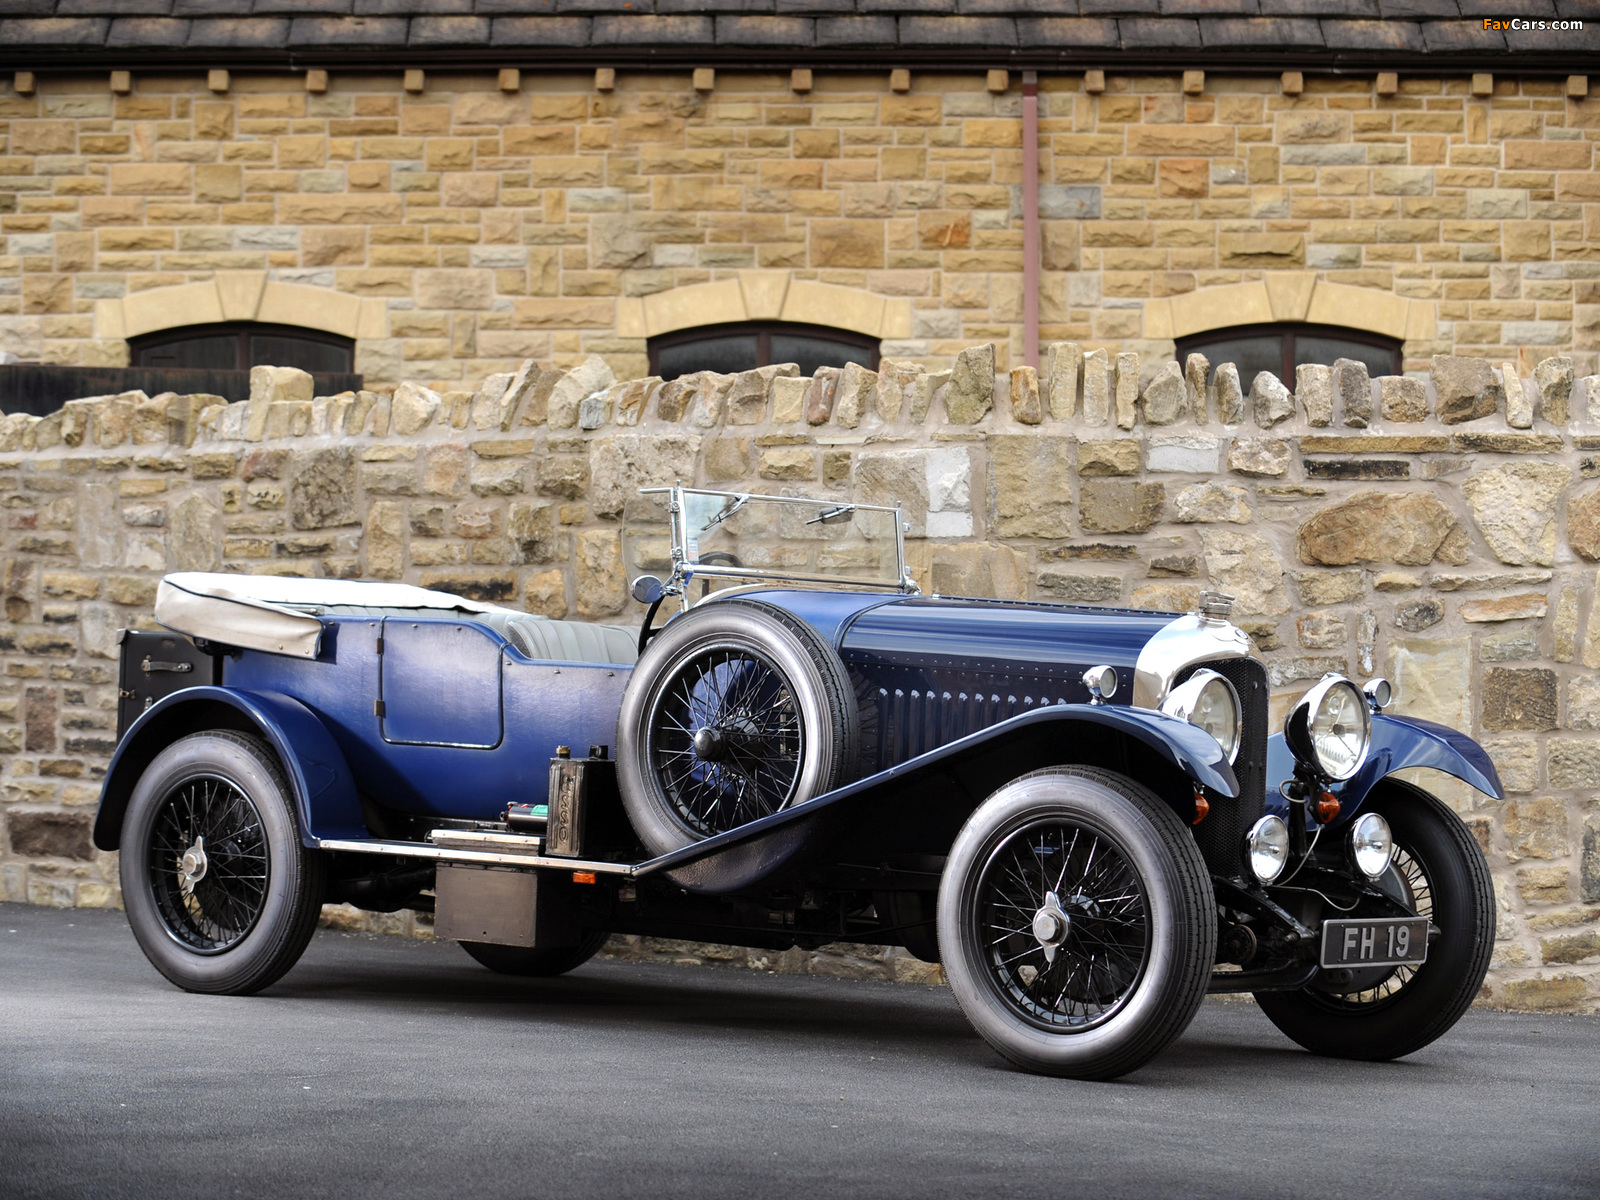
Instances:
[[[1429,1045],[1472,1005],[1494,952],[1494,885],[1477,840],[1438,797],[1390,779],[1365,808],[1389,821],[1395,840],[1379,886],[1408,896],[1440,928],[1427,962],[1363,979],[1355,994],[1314,984],[1256,992],[1256,1002],[1314,1054],[1381,1062]]]

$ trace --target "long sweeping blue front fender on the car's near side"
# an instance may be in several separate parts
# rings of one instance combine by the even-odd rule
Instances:
[[[1194,818],[1195,787],[1238,795],[1234,770],[1211,734],[1147,709],[1058,704],[662,854],[638,874],[662,870],[690,891],[730,893],[779,869],[814,862],[829,845],[851,856],[870,854],[869,846],[893,846],[904,829],[944,853],[960,822],[994,790],[1040,766],[1069,763],[1120,770],[1150,787],[1184,821]]]

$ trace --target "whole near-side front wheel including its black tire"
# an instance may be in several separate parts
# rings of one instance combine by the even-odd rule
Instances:
[[[1067,917],[1048,934],[1061,938],[1053,955],[1035,933],[1048,896]],[[1115,1078],[1165,1050],[1205,1000],[1211,877],[1189,829],[1149,789],[1083,766],[1034,771],[957,835],[939,888],[939,950],[962,1011],[1000,1054],[1042,1075]]]

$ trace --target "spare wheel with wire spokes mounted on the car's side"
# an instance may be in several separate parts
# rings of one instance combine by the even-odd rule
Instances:
[[[618,715],[634,832],[664,854],[846,782],[859,720],[845,664],[806,622],[755,600],[674,618]]]

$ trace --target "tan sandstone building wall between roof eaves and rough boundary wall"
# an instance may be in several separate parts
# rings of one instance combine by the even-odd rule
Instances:
[[[0,83],[0,350],[118,365],[270,320],[354,338],[368,382],[459,387],[530,355],[638,376],[646,336],[782,317],[1022,362],[1014,74],[416,75]],[[1403,339],[1405,370],[1600,370],[1600,94],[1190,75],[1040,80],[1043,341],[1310,320]]]

